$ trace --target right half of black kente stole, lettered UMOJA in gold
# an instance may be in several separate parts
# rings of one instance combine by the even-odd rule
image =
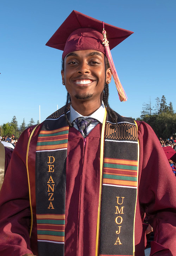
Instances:
[[[118,115],[118,114],[117,114]],[[100,215],[100,256],[133,256],[138,187],[137,124],[118,115],[106,120]]]

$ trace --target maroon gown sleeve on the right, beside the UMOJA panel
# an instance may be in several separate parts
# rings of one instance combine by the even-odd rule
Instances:
[[[154,230],[150,256],[176,256],[176,177],[152,128],[137,122],[139,204]]]

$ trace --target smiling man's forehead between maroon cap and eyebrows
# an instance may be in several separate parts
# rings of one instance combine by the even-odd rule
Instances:
[[[77,50],[77,51],[68,53],[65,56],[65,59],[67,59],[69,56],[75,56],[78,58],[88,58],[90,56],[99,56],[102,59],[105,58],[105,55],[102,52],[99,52],[97,50]]]

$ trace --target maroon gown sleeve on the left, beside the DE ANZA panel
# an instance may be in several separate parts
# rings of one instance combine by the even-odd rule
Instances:
[[[32,127],[20,136],[0,191],[0,255],[31,253],[30,205],[26,172],[26,149]]]

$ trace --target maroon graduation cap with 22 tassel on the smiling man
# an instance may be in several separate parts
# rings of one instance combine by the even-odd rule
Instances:
[[[126,101],[127,97],[115,70],[110,50],[132,33],[132,31],[115,27],[73,11],[46,43],[46,46],[63,50],[62,59],[68,53],[76,50],[98,50],[105,54],[119,93],[119,99],[120,101]]]

